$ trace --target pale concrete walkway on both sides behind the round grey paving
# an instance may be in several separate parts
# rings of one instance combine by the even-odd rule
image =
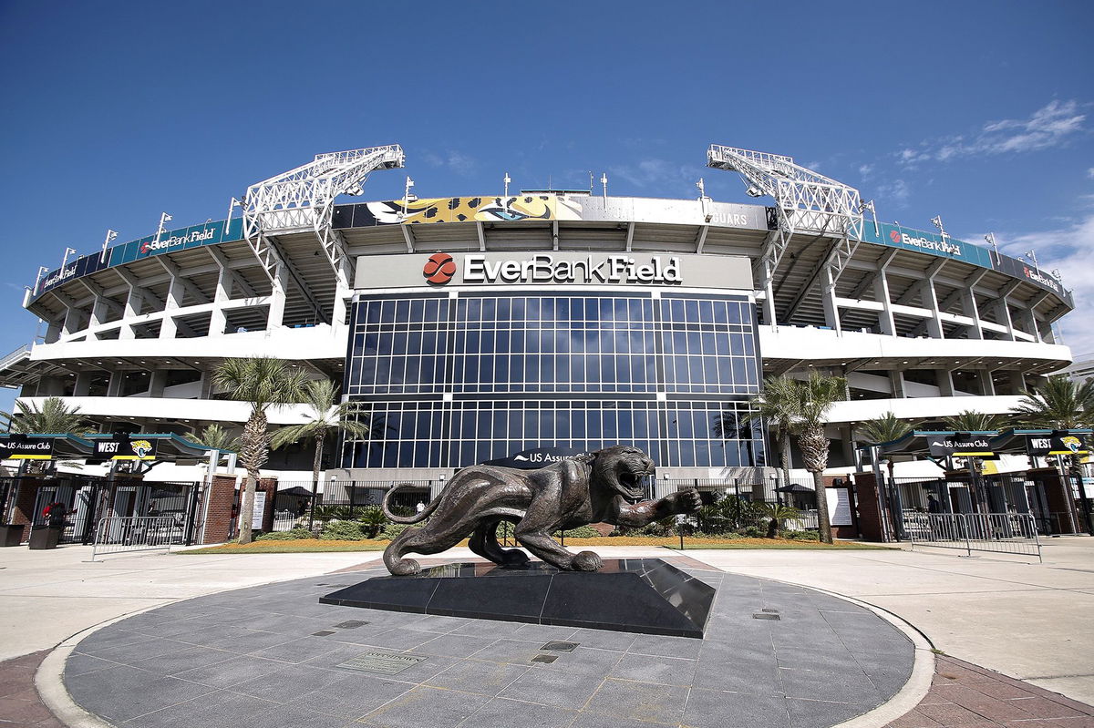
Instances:
[[[664,549],[603,548],[604,556]],[[1094,704],[1094,539],[1048,540],[1045,563],[957,552],[694,551],[724,571],[813,586],[887,609],[946,654]],[[0,659],[53,647],[103,621],[183,598],[317,576],[376,553],[128,555],[0,549]],[[443,554],[470,556],[465,549]]]

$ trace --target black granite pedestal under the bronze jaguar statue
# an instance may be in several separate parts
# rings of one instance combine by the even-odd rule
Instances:
[[[377,576],[324,604],[702,638],[714,589],[660,559],[609,559],[598,572],[456,563]]]

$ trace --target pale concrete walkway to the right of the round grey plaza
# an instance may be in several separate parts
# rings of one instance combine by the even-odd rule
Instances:
[[[957,551],[687,551],[724,571],[882,607],[947,655],[1094,705],[1094,538],[1036,560]]]

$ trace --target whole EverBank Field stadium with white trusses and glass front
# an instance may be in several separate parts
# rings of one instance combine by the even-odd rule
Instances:
[[[328,489],[435,490],[468,465],[615,443],[649,451],[663,481],[765,483],[773,457],[745,418],[766,376],[847,378],[828,418],[838,474],[858,465],[857,422],[1008,412],[1071,362],[1057,278],[939,219],[878,222],[789,156],[708,150],[766,204],[715,201],[701,180],[697,199],[614,197],[606,180],[511,193],[508,176],[501,195],[419,199],[407,178],[404,199],[346,199],[403,165],[398,145],[319,154],[225,220],[165,220],[45,271],[24,301],[44,333],[0,361],[0,385],[61,397],[103,433],[184,434],[242,425],[248,406],[211,373],[269,355],[340,383],[371,424],[328,458]],[[268,468],[310,480],[310,463],[300,446]],[[155,477],[198,480],[171,467]]]

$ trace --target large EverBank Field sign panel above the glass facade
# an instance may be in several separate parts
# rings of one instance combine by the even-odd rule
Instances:
[[[752,290],[747,258],[597,253],[434,253],[357,260],[356,287],[626,285]]]

